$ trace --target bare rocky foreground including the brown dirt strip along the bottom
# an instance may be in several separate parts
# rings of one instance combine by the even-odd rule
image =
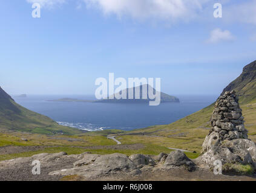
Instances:
[[[31,163],[39,160],[41,174]],[[0,180],[256,180],[253,176],[214,175],[182,151],[158,156],[42,153],[0,162]]]

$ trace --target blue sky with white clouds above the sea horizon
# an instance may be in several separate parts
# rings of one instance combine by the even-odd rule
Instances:
[[[160,77],[172,95],[218,95],[256,60],[254,0],[1,1],[0,28],[0,86],[11,94],[92,94],[114,72]]]

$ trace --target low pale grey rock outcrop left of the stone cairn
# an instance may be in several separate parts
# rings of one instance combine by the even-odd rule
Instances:
[[[39,160],[41,163],[42,176],[32,174],[33,160]],[[67,155],[64,152],[42,153],[0,162],[0,180],[58,180],[64,176],[97,180],[113,174],[140,176],[143,171],[174,168],[194,171],[196,166],[182,151],[172,151],[169,155],[160,153],[158,156],[134,154],[130,157],[119,153],[106,155],[89,152],[78,155]]]

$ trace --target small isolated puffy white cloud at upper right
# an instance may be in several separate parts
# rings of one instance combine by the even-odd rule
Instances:
[[[207,43],[218,43],[223,41],[231,41],[234,40],[235,37],[228,30],[221,30],[220,28],[216,28],[211,31],[210,38],[206,40]]]

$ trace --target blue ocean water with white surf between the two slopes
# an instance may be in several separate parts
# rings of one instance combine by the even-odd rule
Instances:
[[[61,125],[95,131],[105,129],[133,130],[151,125],[169,124],[213,103],[218,96],[177,96],[180,103],[107,104],[80,102],[49,102],[59,98],[92,100],[93,96],[29,95],[13,97],[16,103],[41,113]]]

